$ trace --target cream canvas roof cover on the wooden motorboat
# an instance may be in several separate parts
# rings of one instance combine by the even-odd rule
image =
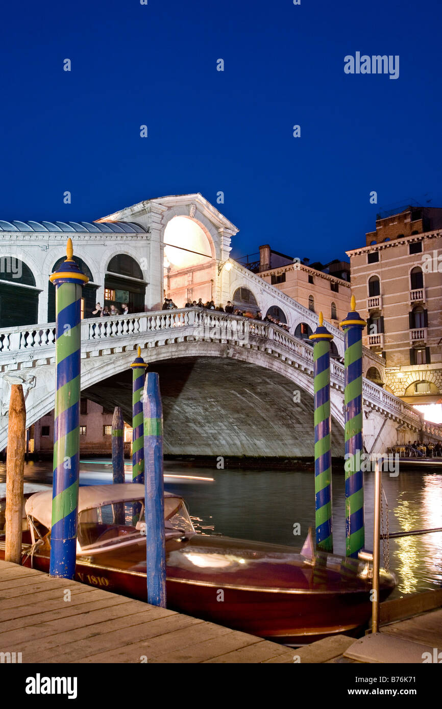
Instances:
[[[166,497],[179,496],[170,492],[164,493]],[[84,485],[78,491],[78,511],[90,510],[101,505],[111,505],[114,502],[129,502],[131,500],[144,500],[144,485],[139,483],[118,483],[115,485]],[[26,500],[25,510],[42,525],[50,529],[53,513],[52,488],[45,492],[38,492]]]

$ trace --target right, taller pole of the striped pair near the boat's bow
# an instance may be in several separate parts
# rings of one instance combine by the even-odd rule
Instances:
[[[364,474],[358,460],[363,451],[362,335],[367,323],[356,312],[355,296],[351,296],[350,308],[350,313],[341,323],[345,333],[346,556],[357,559],[365,542]]]

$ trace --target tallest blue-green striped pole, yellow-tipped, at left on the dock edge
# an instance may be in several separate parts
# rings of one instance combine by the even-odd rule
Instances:
[[[82,285],[89,280],[72,258],[49,279],[55,285],[55,411],[50,576],[73,579],[77,547]]]

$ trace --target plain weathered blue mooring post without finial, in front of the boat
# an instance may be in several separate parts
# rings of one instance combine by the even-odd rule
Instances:
[[[166,607],[166,547],[160,378],[148,372],[143,395],[148,603]]]

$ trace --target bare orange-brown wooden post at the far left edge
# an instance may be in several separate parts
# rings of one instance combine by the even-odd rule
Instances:
[[[21,562],[26,408],[21,384],[11,384],[6,454],[5,562]]]

